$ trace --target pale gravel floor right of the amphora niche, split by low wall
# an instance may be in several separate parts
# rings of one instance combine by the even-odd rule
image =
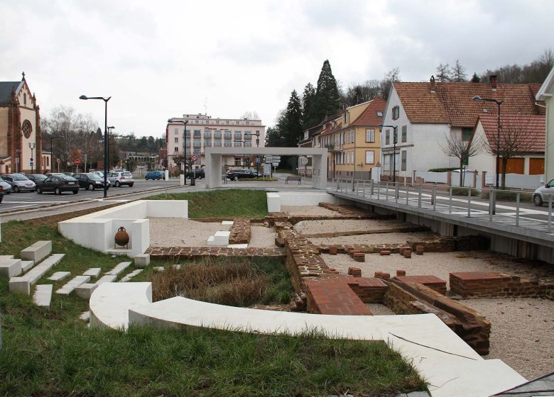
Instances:
[[[219,230],[229,230],[221,222],[197,222],[182,218],[149,218],[152,247],[206,247],[207,239]],[[252,226],[249,247],[274,247],[276,233],[271,228]]]

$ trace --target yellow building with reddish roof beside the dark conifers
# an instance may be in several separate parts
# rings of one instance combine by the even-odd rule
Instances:
[[[313,136],[313,147],[329,149],[327,178],[371,179],[381,158],[381,133],[386,101],[371,101],[344,108]]]

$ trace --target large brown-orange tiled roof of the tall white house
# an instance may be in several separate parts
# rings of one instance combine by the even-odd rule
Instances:
[[[498,84],[496,91],[489,83],[394,83],[394,88],[411,123],[440,123],[453,127],[473,127],[477,117],[487,108],[496,114],[494,102],[474,101],[482,98],[504,101],[501,113],[537,116],[542,113],[535,105],[539,84]]]

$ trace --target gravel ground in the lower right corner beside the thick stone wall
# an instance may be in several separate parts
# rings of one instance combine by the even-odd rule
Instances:
[[[492,324],[491,350],[485,358],[501,359],[527,379],[553,371],[554,301],[506,298],[462,303]]]

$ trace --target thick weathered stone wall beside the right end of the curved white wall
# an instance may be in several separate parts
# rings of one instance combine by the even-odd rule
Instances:
[[[396,314],[434,313],[477,353],[489,354],[491,323],[428,286],[391,279],[383,303]]]

